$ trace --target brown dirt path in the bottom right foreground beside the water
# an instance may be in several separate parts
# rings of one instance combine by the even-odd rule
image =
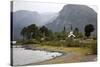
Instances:
[[[88,55],[88,56],[82,56],[80,54],[70,52],[66,53],[63,56],[56,57],[50,60],[46,60],[39,63],[32,63],[28,65],[44,65],[44,64],[61,64],[61,63],[76,63],[76,62],[89,62],[89,61],[96,61],[97,58],[96,55]]]

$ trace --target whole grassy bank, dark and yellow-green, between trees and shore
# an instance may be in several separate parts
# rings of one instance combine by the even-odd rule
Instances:
[[[96,40],[80,40],[80,39],[66,39],[66,40],[53,40],[53,41],[37,41],[35,39],[33,40],[25,40],[25,41],[18,41],[17,43],[21,43],[24,45],[27,44],[33,44],[37,46],[38,48],[48,49],[48,50],[54,50],[54,51],[77,51],[80,53],[91,53],[91,54],[97,54],[97,42]],[[37,45],[38,44],[38,45]]]

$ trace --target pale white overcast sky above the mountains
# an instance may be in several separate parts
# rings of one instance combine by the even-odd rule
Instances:
[[[38,13],[57,13],[59,12],[65,3],[47,3],[47,2],[32,2],[32,1],[15,1],[13,5],[13,11],[18,10],[28,10],[28,11],[37,11]],[[85,5],[85,4],[82,4]],[[94,9],[97,12],[97,6],[87,5]]]

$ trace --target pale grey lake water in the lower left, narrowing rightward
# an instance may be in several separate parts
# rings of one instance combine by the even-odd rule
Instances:
[[[25,65],[30,63],[42,62],[61,55],[62,53],[59,52],[26,50],[25,48],[13,47],[13,65]]]

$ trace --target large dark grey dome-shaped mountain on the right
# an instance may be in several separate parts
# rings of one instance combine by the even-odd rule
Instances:
[[[65,5],[59,12],[59,16],[52,23],[46,24],[46,26],[54,32],[62,31],[64,26],[66,31],[69,31],[71,24],[73,28],[77,27],[81,32],[84,31],[85,25],[93,24],[96,33],[97,13],[85,5]]]

